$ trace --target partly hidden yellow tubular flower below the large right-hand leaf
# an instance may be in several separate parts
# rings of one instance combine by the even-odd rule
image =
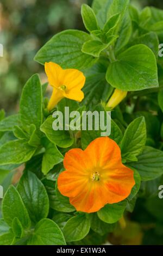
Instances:
[[[124,90],[115,89],[106,107],[115,108],[126,97],[127,93]]]

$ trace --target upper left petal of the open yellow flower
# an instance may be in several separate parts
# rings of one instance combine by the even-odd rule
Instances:
[[[45,72],[48,77],[48,82],[53,87],[59,87],[62,85],[62,68],[60,65],[53,62],[45,63]]]

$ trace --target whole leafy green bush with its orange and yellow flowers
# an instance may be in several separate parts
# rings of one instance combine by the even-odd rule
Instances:
[[[51,99],[35,74],[20,111],[0,113],[4,188],[24,166],[2,200],[0,245],[162,243],[163,10],[94,0],[81,14],[87,32],[62,31],[35,56]],[[53,129],[53,112],[65,107],[79,119],[111,111],[110,135]]]

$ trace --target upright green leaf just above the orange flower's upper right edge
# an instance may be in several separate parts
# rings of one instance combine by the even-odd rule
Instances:
[[[121,143],[122,159],[136,161],[146,144],[146,122],[144,117],[132,121],[124,133]],[[134,160],[135,159],[135,160]]]

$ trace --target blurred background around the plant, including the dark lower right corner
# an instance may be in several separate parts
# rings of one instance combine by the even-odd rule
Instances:
[[[0,109],[12,114],[18,111],[22,87],[28,78],[39,73],[42,82],[46,80],[43,66],[33,60],[36,52],[64,29],[85,30],[80,7],[82,3],[91,4],[92,0],[0,1],[0,44],[4,46],[4,56],[0,57]],[[153,5],[163,9],[162,0],[131,0],[131,3],[138,8]],[[143,199],[137,200],[126,228],[109,237],[112,244],[163,245],[163,201],[160,205],[155,197],[151,200],[146,208]],[[122,227],[123,224],[122,220]]]

